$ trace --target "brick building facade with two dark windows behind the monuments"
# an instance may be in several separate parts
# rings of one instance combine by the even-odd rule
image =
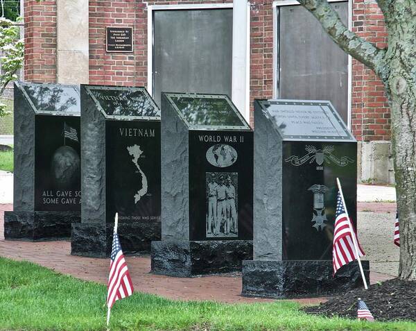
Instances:
[[[386,45],[375,0],[331,1],[352,31]],[[253,124],[254,99],[325,99],[359,142],[358,178],[393,183],[390,110],[373,71],[346,56],[297,1],[25,1],[24,80],[229,94]],[[132,51],[106,48],[132,28]]]

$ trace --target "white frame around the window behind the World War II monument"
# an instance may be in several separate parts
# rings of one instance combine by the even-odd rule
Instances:
[[[235,1],[235,0],[234,0]],[[241,1],[241,0],[237,0]],[[155,10],[198,10],[198,9],[221,9],[221,8],[233,8],[233,3],[197,3],[197,4],[177,4],[177,5],[149,5],[148,6],[148,79],[147,79],[147,90],[150,96],[153,96],[153,41],[154,41],[154,33],[153,33],[153,11]],[[230,96],[234,103],[238,103],[236,101],[243,100],[244,102],[242,105],[237,107],[241,114],[246,121],[250,122],[250,3],[247,2],[247,17],[245,17],[245,22],[242,22],[247,27],[247,46],[245,49],[234,49],[234,42],[233,42],[233,49],[232,54],[234,58],[234,54],[245,54],[245,88],[243,89],[234,89],[239,81],[234,81],[232,79],[232,95]],[[234,22],[234,15],[233,15],[233,29],[234,24],[239,22]],[[241,45],[239,45],[241,46]],[[232,68],[232,76],[234,77],[235,70],[234,65]],[[241,69],[241,68],[239,68]],[[242,73],[244,74],[244,73]],[[236,92],[238,91],[238,92]],[[236,95],[238,94],[238,95]],[[241,103],[240,103],[241,104]]]

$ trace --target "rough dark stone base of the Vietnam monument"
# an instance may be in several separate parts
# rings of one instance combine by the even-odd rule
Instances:
[[[71,255],[109,257],[114,223],[72,225]],[[150,243],[160,239],[161,223],[119,223],[117,228],[124,255],[149,254]]]

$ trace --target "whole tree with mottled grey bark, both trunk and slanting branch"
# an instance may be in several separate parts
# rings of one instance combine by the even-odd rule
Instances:
[[[327,0],[298,0],[346,53],[373,69],[384,83],[392,117],[399,278],[416,280],[416,0],[377,0],[388,28],[388,49],[345,31]],[[393,228],[393,227],[392,227]]]

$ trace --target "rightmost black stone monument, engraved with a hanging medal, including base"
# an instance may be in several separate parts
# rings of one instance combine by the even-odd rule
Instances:
[[[336,178],[356,226],[357,146],[329,101],[254,101],[254,260],[243,296],[325,296],[362,284],[358,263],[332,277]],[[369,276],[369,264],[363,261]]]

